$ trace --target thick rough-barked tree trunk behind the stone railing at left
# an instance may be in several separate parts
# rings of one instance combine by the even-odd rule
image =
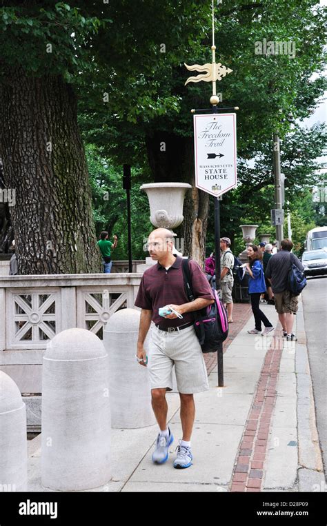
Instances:
[[[0,108],[19,274],[101,272],[72,88],[61,77],[11,69],[1,80]]]

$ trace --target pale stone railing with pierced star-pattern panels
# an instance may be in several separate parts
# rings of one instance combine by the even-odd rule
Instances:
[[[102,339],[110,316],[134,307],[141,276],[0,276],[0,365],[41,363],[47,342],[61,330],[80,327]]]

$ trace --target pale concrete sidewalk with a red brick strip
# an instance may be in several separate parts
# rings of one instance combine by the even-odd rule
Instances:
[[[276,327],[275,307],[261,307]],[[244,312],[249,314],[248,305]],[[224,354],[224,387],[217,387],[217,366],[211,363],[210,390],[195,395],[193,465],[172,467],[181,422],[179,395],[168,393],[175,441],[167,463],[151,461],[157,425],[112,429],[112,481],[92,491],[325,490],[301,304],[297,343],[286,343],[280,326],[272,336],[248,334],[253,326],[250,316]],[[29,443],[28,491],[47,491],[41,487],[40,438]]]

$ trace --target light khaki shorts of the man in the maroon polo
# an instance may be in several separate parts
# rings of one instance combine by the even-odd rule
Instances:
[[[179,393],[208,391],[206,364],[194,327],[166,332],[152,323],[148,350],[151,389],[166,388],[167,391],[172,391],[174,365]]]

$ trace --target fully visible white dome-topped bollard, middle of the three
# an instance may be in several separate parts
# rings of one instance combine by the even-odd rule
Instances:
[[[85,329],[54,336],[43,356],[42,485],[99,487],[111,478],[108,355]]]

